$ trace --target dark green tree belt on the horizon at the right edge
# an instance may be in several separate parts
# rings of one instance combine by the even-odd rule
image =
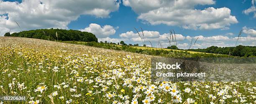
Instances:
[[[216,54],[230,54],[239,57],[250,57],[256,56],[256,46],[243,46],[238,45],[236,47],[217,47],[211,46],[206,49],[189,49],[188,51],[195,52],[207,52]]]

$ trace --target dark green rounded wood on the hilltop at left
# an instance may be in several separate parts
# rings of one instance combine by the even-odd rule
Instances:
[[[5,33],[6,34],[6,33]],[[57,35],[56,35],[57,34]],[[7,35],[8,36],[8,35]],[[81,32],[78,30],[62,29],[39,29],[13,33],[11,37],[28,37],[42,40],[60,40],[60,41],[84,41],[97,42],[97,37],[90,32]]]

